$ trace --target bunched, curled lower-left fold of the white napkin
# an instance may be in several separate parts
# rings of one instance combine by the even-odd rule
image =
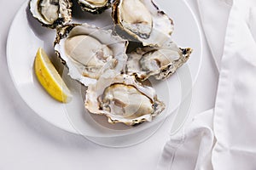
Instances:
[[[211,170],[211,152],[215,141],[212,116],[213,110],[205,111],[195,116],[183,132],[173,135],[165,145],[158,170]]]

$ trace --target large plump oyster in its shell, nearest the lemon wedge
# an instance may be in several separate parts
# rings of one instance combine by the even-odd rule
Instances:
[[[106,70],[124,71],[127,43],[112,31],[73,24],[58,29],[55,53],[67,65],[68,74],[87,86]]]

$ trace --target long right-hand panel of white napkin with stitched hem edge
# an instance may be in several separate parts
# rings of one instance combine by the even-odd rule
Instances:
[[[249,27],[256,17],[250,15],[253,3],[235,0],[230,11],[213,122],[214,169],[256,167],[256,43]]]

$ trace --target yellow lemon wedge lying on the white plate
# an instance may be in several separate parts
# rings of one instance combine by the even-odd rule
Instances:
[[[49,95],[63,103],[71,101],[72,94],[43,48],[38,48],[34,64],[38,81]]]

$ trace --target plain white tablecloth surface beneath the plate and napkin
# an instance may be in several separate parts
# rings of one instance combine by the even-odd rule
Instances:
[[[0,2],[0,169],[154,170],[169,139],[171,118],[143,143],[114,149],[54,127],[20,98],[9,77],[5,48],[9,26],[22,3],[24,0]],[[195,0],[189,4],[198,17]],[[203,43],[203,60],[193,89],[190,117],[212,108],[218,83],[218,70],[204,38]]]

